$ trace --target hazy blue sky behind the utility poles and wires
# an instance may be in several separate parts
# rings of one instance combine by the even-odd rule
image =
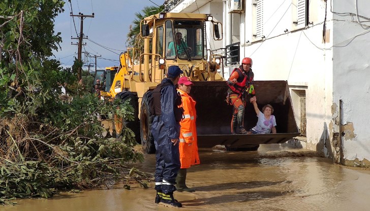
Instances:
[[[126,50],[127,33],[130,25],[136,18],[135,13],[141,13],[146,6],[161,6],[164,0],[65,0],[65,12],[55,18],[55,33],[61,32],[63,42],[60,43],[61,49],[54,52],[55,58],[60,60],[63,66],[71,66],[74,57],[77,58],[78,40],[71,40],[71,36],[77,38],[80,33],[80,18],[74,17],[75,26],[70,16],[71,4],[74,15],[79,12],[84,15],[94,13],[94,18],[85,18],[83,21],[83,32],[89,40],[84,39],[82,51],[86,51],[90,56],[98,55],[97,68],[103,69],[106,66],[118,65],[119,54]],[[91,40],[91,41],[90,41]],[[94,43],[95,42],[95,43]],[[99,45],[97,45],[99,44]],[[101,47],[104,46],[104,47]],[[108,50],[107,50],[108,49]],[[82,59],[95,65],[95,59],[85,57]],[[84,69],[87,67],[84,67]],[[91,67],[91,69],[95,69]]]

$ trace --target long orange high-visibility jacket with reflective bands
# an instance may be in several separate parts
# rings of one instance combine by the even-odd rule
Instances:
[[[189,168],[191,165],[200,164],[197,143],[197,130],[195,120],[195,100],[186,92],[177,89],[181,95],[182,108],[184,109],[184,119],[180,122],[180,162],[181,168]]]

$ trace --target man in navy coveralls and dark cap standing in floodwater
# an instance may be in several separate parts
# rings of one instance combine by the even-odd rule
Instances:
[[[170,66],[167,78],[152,92],[152,109],[155,117],[151,125],[156,146],[156,171],[155,189],[157,190],[156,203],[164,203],[181,207],[173,197],[176,191],[176,176],[180,169],[180,155],[178,148],[178,138],[180,135],[180,124],[182,110],[181,97],[177,94],[175,85],[183,72],[178,66]]]

